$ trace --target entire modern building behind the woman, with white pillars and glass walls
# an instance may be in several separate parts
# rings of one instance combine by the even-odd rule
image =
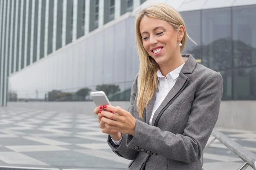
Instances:
[[[0,0],[1,105],[84,101],[99,90],[129,101],[139,70],[134,15],[155,2],[180,11],[198,43],[183,53],[222,75],[223,100],[256,100],[255,0],[144,1]]]

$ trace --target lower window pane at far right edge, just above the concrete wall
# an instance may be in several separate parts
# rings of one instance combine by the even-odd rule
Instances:
[[[256,99],[256,67],[234,71],[234,100]]]

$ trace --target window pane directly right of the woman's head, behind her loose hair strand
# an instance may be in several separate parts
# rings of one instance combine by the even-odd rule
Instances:
[[[187,39],[186,47],[182,51],[182,54],[192,54],[195,59],[202,59],[200,11],[181,12],[181,15],[186,24],[189,37],[198,44],[195,45],[194,42]]]

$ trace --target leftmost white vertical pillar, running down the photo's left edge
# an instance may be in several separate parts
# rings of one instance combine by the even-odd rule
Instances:
[[[5,57],[3,54],[4,48],[4,40],[5,40],[5,22],[6,22],[6,0],[3,0],[3,32],[2,32],[2,48],[1,48],[1,75],[0,75],[0,106],[3,103],[3,58]]]

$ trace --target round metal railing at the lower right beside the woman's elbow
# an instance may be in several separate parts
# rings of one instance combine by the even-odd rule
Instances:
[[[235,153],[244,161],[243,166],[241,166],[238,170],[245,170],[249,166],[252,167],[254,170],[256,170],[255,154],[245,149],[240,144],[234,142],[233,140],[231,140],[229,137],[219,132],[218,130],[213,129],[211,136],[214,136],[214,138],[212,140],[211,139],[208,140],[205,149],[209,147],[210,144],[212,144],[216,139],[218,139],[222,144],[224,144],[228,149],[232,150],[233,153]],[[204,163],[203,159],[204,159],[204,154],[202,153],[202,156],[201,156],[202,165]],[[202,169],[205,170],[204,167],[202,167]]]

